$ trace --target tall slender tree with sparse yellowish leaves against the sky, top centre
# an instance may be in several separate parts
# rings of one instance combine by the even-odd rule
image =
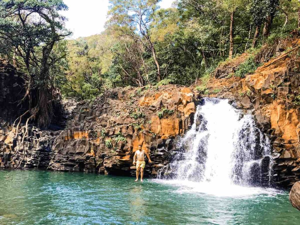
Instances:
[[[152,22],[161,0],[110,0],[109,14],[111,25],[121,32],[120,36],[131,37],[141,42],[152,53],[157,67],[157,79],[161,80],[161,68],[158,62],[155,41],[152,39]]]

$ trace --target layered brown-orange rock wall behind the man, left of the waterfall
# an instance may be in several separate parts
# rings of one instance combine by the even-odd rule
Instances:
[[[78,105],[54,141],[49,169],[134,174],[133,155],[141,145],[154,162],[146,165],[145,175],[155,175],[168,164],[167,152],[189,128],[193,113],[189,88],[114,89],[93,103]]]

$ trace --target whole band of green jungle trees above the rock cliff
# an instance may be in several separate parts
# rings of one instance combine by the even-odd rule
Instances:
[[[84,100],[115,87],[197,83],[300,27],[298,0],[159,2],[110,0],[105,31],[72,40],[63,0],[0,0],[0,57],[26,75],[31,119],[47,126],[58,93]]]

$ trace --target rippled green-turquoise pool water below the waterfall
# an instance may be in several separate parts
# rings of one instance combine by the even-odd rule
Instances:
[[[274,190],[222,197],[155,180],[36,170],[0,170],[0,190],[4,225],[300,224],[288,192]]]

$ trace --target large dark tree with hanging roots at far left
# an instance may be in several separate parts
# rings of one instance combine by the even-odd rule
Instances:
[[[70,35],[58,11],[67,10],[67,6],[62,0],[2,0],[0,7],[0,51],[17,62],[27,76],[22,101],[28,104],[28,120],[46,127],[56,95],[50,71],[66,56],[53,58],[57,56],[53,49]]]

